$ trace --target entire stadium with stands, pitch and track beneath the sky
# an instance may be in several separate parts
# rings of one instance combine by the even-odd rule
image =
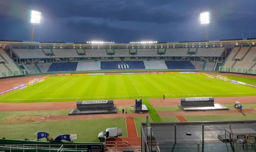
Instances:
[[[255,151],[255,42],[2,40],[0,149]]]

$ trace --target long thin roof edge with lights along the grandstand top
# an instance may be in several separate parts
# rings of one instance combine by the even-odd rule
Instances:
[[[223,39],[219,41],[180,41],[180,42],[157,42],[153,44],[90,44],[89,42],[31,42],[31,41],[14,41],[0,40],[1,46],[60,46],[60,47],[133,47],[133,46],[199,46],[199,45],[254,45],[256,38],[247,39]]]

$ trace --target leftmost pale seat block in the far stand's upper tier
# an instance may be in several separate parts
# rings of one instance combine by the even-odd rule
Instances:
[[[48,58],[42,50],[12,49],[19,58]]]

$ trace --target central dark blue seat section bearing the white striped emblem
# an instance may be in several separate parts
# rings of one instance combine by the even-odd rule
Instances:
[[[101,70],[115,69],[145,69],[143,61],[101,61]]]

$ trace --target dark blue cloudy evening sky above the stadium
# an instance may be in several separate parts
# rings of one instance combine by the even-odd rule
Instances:
[[[42,13],[34,41],[209,40],[256,37],[255,0],[0,0],[0,39],[29,40],[29,10]]]

